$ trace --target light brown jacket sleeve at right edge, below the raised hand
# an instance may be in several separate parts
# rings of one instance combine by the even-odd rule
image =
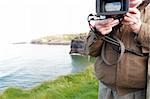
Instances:
[[[150,6],[145,8],[145,21],[142,22],[137,40],[142,45],[142,52],[150,52]]]

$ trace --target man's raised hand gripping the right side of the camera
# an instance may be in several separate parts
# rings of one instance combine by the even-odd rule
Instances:
[[[129,8],[129,12],[124,16],[124,25],[128,25],[132,32],[138,33],[141,27],[140,11],[137,8]]]

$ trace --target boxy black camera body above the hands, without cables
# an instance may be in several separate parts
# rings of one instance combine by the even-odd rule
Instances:
[[[123,17],[128,12],[129,0],[96,0],[97,16]]]

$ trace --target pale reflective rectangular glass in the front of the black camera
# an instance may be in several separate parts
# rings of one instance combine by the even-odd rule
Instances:
[[[105,4],[105,11],[120,11],[121,2],[110,2]]]

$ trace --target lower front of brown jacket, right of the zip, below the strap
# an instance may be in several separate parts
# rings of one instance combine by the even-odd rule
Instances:
[[[127,88],[144,88],[146,84],[147,57],[130,53],[126,53],[124,57],[118,74],[118,85]]]

